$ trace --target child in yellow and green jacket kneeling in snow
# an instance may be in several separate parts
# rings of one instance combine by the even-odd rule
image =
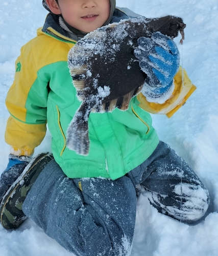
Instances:
[[[201,219],[209,204],[207,189],[159,141],[145,111],[171,116],[195,89],[186,73],[186,87],[182,84],[174,42],[160,33],[139,38],[135,55],[150,73],[146,97],[138,94],[125,112],[90,114],[89,155],[77,155],[65,143],[67,126],[81,104],[67,67],[68,51],[86,33],[129,16],[115,9],[115,0],[42,3],[50,13],[37,37],[22,47],[6,99],[11,154],[0,180],[2,225],[17,228],[29,217],[76,255],[130,255],[136,185],[159,212],[185,223]],[[46,123],[54,157],[42,153],[31,160]]]

